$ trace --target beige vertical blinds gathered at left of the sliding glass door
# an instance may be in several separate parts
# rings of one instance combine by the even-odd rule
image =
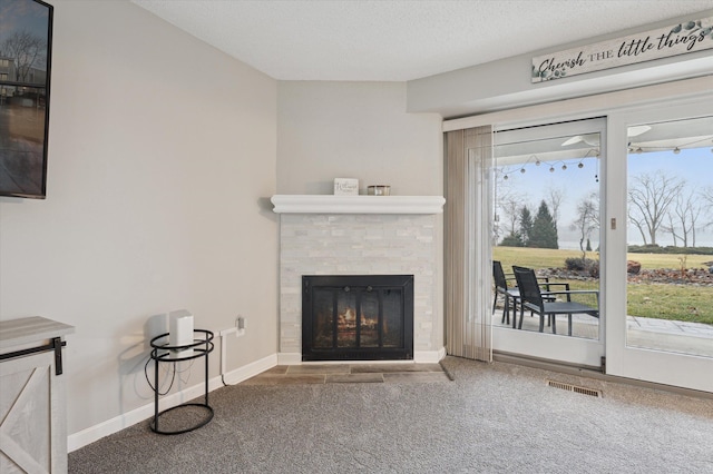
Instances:
[[[492,127],[449,131],[443,141],[446,349],[491,362]]]

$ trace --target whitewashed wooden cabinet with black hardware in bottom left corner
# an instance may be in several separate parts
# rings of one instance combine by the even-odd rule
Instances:
[[[0,473],[67,472],[62,336],[42,317],[0,322]]]

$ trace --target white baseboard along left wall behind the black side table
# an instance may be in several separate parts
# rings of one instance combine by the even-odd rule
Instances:
[[[236,368],[235,371],[226,373],[224,375],[225,384],[238,384],[250,377],[267,371],[268,368],[274,367],[275,365],[277,365],[277,354],[268,355],[267,357],[263,357],[243,367]],[[213,392],[214,389],[221,388],[223,386],[223,379],[219,375],[217,377],[208,379],[208,392]],[[160,409],[163,411],[173,406],[180,405],[182,403],[202,396],[204,393],[205,386],[203,384],[197,384],[178,393],[163,396],[160,397]],[[67,451],[71,453],[72,451],[79,450],[80,447],[91,444],[105,436],[140,423],[147,418],[150,418],[152,416],[154,416],[153,401],[147,405],[140,406],[115,418],[107,419],[106,422],[101,422],[98,425],[90,426],[80,432],[70,434],[69,436],[67,436]]]

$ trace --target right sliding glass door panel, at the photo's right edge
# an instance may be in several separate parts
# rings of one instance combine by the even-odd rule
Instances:
[[[609,150],[622,157],[607,176],[606,306],[622,315],[609,318],[609,374],[713,392],[711,110],[699,101],[609,117]]]

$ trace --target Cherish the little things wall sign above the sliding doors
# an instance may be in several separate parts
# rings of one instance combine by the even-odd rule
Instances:
[[[713,49],[713,17],[533,58],[533,82]]]

